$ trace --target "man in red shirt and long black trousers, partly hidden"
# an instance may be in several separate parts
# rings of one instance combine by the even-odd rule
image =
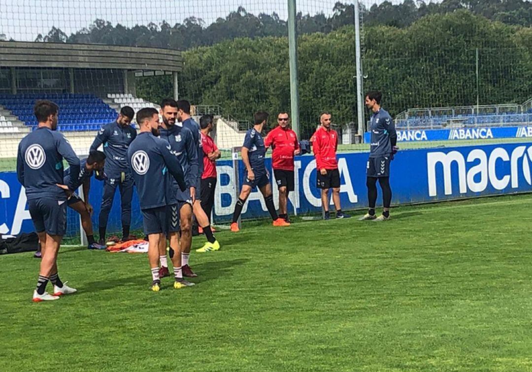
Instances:
[[[203,115],[200,118],[201,127],[201,141],[203,148],[203,174],[201,176],[201,207],[209,223],[211,223],[211,212],[214,206],[214,190],[216,189],[217,173],[216,173],[216,159],[219,159],[222,154],[218,150],[214,140],[209,135],[213,130],[212,115]],[[211,225],[212,226],[212,225]],[[212,227],[211,227],[212,229]],[[197,252],[203,252],[202,248],[196,249]]]

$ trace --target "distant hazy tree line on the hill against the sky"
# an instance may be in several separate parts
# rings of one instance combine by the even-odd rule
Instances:
[[[404,28],[432,14],[447,14],[467,10],[493,21],[508,25],[532,26],[532,2],[525,0],[443,0],[425,3],[422,0],[404,0],[399,4],[385,1],[366,8],[361,13],[365,26],[393,26]],[[337,2],[330,15],[297,14],[299,34],[325,33],[354,23],[353,4]],[[166,21],[125,27],[118,23],[97,19],[87,28],[71,35],[53,27],[46,35],[38,35],[37,42],[107,44],[126,46],[153,46],[187,50],[192,47],[213,45],[239,37],[282,37],[287,34],[287,23],[277,13],[254,15],[240,6],[225,18],[206,25],[201,16],[189,17],[182,23],[170,25]]]

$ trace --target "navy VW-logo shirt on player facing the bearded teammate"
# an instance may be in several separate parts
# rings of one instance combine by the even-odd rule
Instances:
[[[170,144],[152,133],[142,132],[131,142],[127,161],[137,186],[140,209],[168,204],[166,195],[170,187],[167,172],[170,172],[182,191],[186,189],[183,170]]]

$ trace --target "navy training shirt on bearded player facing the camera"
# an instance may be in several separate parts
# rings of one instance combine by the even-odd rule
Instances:
[[[170,144],[173,155],[177,157],[183,173],[185,175],[185,182],[187,190],[181,191],[176,180],[170,177],[170,190],[168,204],[177,204],[178,201],[190,200],[190,191],[188,188],[195,187],[198,174],[198,158],[196,153],[196,144],[192,132],[188,128],[179,125],[173,125],[169,130],[160,128],[161,139]]]

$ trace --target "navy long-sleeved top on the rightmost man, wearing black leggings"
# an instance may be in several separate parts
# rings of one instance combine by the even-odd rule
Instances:
[[[392,153],[392,139],[395,144],[397,132],[394,120],[388,112],[380,109],[371,116],[370,122],[371,144],[370,158],[390,156]]]

